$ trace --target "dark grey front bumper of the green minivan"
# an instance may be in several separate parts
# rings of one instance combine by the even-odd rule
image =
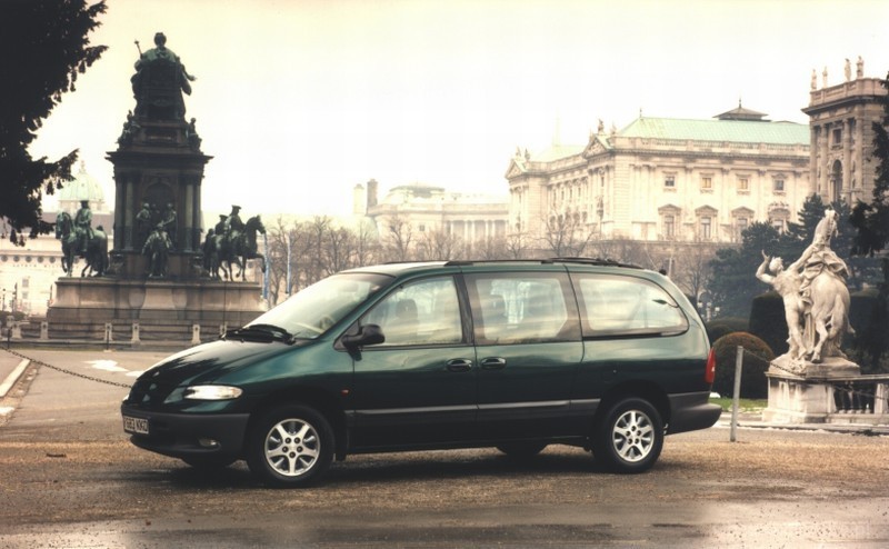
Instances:
[[[248,413],[164,413],[127,405],[120,412],[148,420],[148,435],[129,433],[130,441],[144,450],[179,459],[243,457]]]

